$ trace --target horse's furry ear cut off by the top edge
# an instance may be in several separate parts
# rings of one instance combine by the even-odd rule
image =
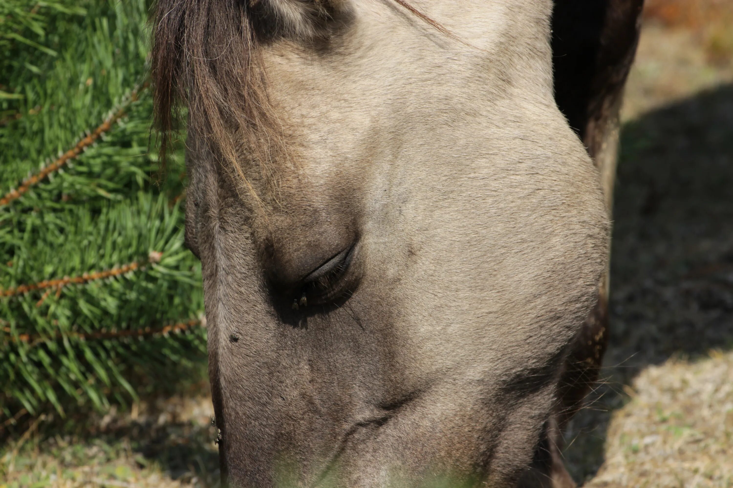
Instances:
[[[250,0],[252,19],[265,35],[312,39],[328,37],[351,15],[350,0]]]

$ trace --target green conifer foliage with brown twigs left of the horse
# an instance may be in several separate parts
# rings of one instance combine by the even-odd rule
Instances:
[[[0,1],[0,411],[106,408],[205,358],[147,0]],[[0,416],[1,418],[1,416]]]

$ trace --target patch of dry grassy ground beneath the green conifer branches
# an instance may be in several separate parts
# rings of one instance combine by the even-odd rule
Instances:
[[[0,445],[0,479],[9,488],[56,478],[61,484],[53,486],[218,487],[210,398],[151,397],[143,405],[140,413],[114,406],[104,416],[69,410],[66,418],[33,418],[23,435]]]

